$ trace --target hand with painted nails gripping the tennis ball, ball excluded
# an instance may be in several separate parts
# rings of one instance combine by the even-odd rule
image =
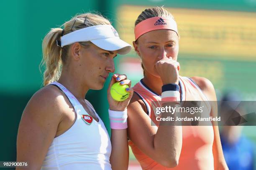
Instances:
[[[123,82],[122,85],[128,85],[129,88],[128,90],[126,89],[127,92],[130,92],[130,95],[128,96],[128,98],[126,100],[123,101],[116,101],[114,100],[111,95],[110,95],[110,88],[112,87],[112,85],[115,82]],[[116,110],[116,111],[123,111],[126,109],[126,107],[128,106],[131,97],[133,96],[133,88],[131,88],[131,80],[127,79],[126,75],[120,75],[120,74],[114,74],[111,78],[109,87],[108,87],[108,103],[109,103],[109,109],[110,110]]]

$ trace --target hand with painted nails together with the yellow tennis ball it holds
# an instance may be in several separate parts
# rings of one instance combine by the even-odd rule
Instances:
[[[132,96],[131,80],[128,80],[126,75],[113,75],[108,87],[109,109],[116,111],[125,110]]]

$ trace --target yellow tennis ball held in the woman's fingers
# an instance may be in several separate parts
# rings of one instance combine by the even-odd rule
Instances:
[[[130,95],[130,92],[125,90],[128,87],[128,85],[120,85],[120,82],[116,82],[111,86],[110,95],[116,101],[123,101]]]

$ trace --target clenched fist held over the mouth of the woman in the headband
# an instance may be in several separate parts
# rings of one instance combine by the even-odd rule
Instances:
[[[166,84],[179,84],[179,62],[168,59],[162,59],[155,64],[156,71],[161,77],[163,85]]]

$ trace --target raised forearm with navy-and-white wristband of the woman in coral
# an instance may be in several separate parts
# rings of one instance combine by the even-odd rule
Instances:
[[[159,152],[159,155],[167,158],[168,162],[173,162],[176,165],[182,148],[182,126],[180,122],[176,121],[176,117],[180,117],[180,113],[177,110],[170,112],[170,108],[180,106],[179,86],[177,84],[163,85],[161,96],[161,118],[169,117],[172,119],[169,121],[160,120],[154,138],[154,149]],[[163,108],[166,109],[162,110]]]

